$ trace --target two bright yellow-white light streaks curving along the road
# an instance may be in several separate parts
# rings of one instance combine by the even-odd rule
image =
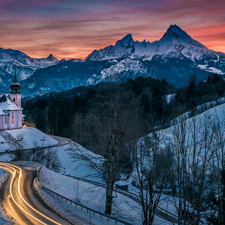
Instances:
[[[35,208],[33,208],[33,207],[32,207],[32,206],[31,206],[31,205],[23,198],[23,196],[22,196],[22,194],[21,194],[21,192],[20,192],[20,180],[21,180],[21,177],[22,177],[22,170],[20,169],[20,167],[15,166],[15,165],[11,165],[11,164],[8,164],[8,163],[4,163],[4,164],[2,163],[2,165],[3,165],[3,166],[6,166],[6,167],[8,167],[8,168],[11,168],[11,169],[14,170],[13,178],[12,178],[12,180],[11,180],[11,182],[10,182],[10,195],[11,195],[11,197],[12,197],[12,200],[15,202],[15,204],[16,204],[23,212],[25,212],[27,215],[31,216],[31,217],[32,217],[33,219],[35,219],[36,221],[40,222],[40,223],[43,224],[43,225],[47,225],[46,223],[42,222],[42,221],[39,220],[38,218],[32,216],[32,215],[31,215],[29,212],[27,212],[26,210],[24,210],[24,209],[16,202],[16,200],[14,199],[13,194],[12,194],[12,183],[13,183],[14,177],[15,177],[15,175],[16,175],[16,169],[15,169],[15,168],[17,168],[17,169],[20,171],[19,179],[18,179],[18,193],[19,193],[19,196],[21,197],[21,199],[23,200],[23,202],[24,202],[29,208],[31,208],[33,211],[35,211],[36,213],[38,213],[38,214],[41,215],[42,217],[48,219],[49,221],[51,221],[51,222],[53,222],[53,223],[55,223],[55,224],[57,224],[57,225],[61,225],[60,223],[58,223],[58,222],[52,220],[51,218],[45,216],[44,214],[42,214],[41,212],[39,212],[38,210],[36,210]],[[15,167],[15,168],[14,168],[14,167]]]

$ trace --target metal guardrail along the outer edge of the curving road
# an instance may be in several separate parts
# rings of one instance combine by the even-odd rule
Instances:
[[[42,168],[42,166],[41,166],[41,167],[39,168],[39,170],[37,171],[37,183],[38,183],[38,185],[40,185],[42,188],[44,188],[44,189],[47,190],[48,192],[50,192],[50,193],[52,193],[53,195],[55,195],[55,196],[61,198],[61,200],[65,200],[66,202],[70,202],[71,205],[74,205],[74,206],[76,206],[76,207],[77,207],[77,206],[81,207],[81,210],[84,208],[85,210],[87,210],[87,212],[93,212],[93,215],[99,214],[100,217],[105,217],[105,218],[107,218],[107,220],[114,220],[114,221],[115,221],[115,224],[118,224],[118,222],[119,222],[119,223],[125,224],[125,225],[132,225],[131,223],[125,222],[125,221],[123,221],[123,220],[120,220],[120,219],[117,219],[117,218],[115,218],[115,217],[109,216],[109,215],[107,215],[107,214],[105,214],[105,213],[101,213],[101,212],[99,212],[99,211],[97,211],[97,210],[91,209],[91,208],[89,208],[89,207],[87,207],[87,206],[84,206],[84,205],[78,203],[78,202],[72,201],[72,200],[70,200],[70,199],[68,199],[68,198],[66,198],[66,197],[64,197],[64,196],[62,196],[62,195],[60,195],[60,194],[58,194],[58,193],[56,193],[56,192],[50,190],[49,188],[43,186],[43,185],[40,184],[40,182],[39,182],[39,173],[40,173],[40,171],[41,171],[41,168]]]

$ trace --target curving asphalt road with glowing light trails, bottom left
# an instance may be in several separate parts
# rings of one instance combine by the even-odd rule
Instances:
[[[70,224],[52,212],[32,191],[37,168],[32,165],[0,163],[0,167],[10,172],[10,179],[0,191],[2,207],[14,224],[59,225]]]

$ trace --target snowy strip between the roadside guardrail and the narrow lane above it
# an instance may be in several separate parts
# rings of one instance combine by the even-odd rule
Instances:
[[[82,181],[74,180],[50,171],[42,167],[39,174],[40,183],[50,190],[65,196],[68,199],[79,202],[82,205],[90,207],[100,212],[104,212],[105,205],[105,189],[102,187],[88,184]],[[65,185],[66,184],[66,185]],[[40,189],[41,190],[41,189]],[[42,192],[42,190],[41,190]],[[48,197],[47,193],[42,192],[43,197]],[[132,224],[142,224],[141,221],[141,207],[135,201],[127,198],[120,193],[115,193],[113,205],[113,214],[120,218],[131,222]],[[55,204],[56,206],[57,204]],[[80,217],[81,214],[78,214]],[[86,216],[87,217],[87,216]],[[84,221],[81,219],[81,221]],[[114,222],[115,223],[115,222]],[[95,224],[95,223],[94,223]],[[108,224],[98,221],[96,224]],[[154,224],[170,224],[156,216]]]

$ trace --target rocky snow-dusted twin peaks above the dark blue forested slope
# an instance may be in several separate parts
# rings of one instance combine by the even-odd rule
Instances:
[[[169,60],[171,58],[188,59],[193,62],[201,60],[218,60],[220,56],[192,39],[177,25],[171,25],[159,41],[152,43],[135,41],[131,34],[100,50],[94,50],[86,60],[108,60],[131,58],[141,60]]]

